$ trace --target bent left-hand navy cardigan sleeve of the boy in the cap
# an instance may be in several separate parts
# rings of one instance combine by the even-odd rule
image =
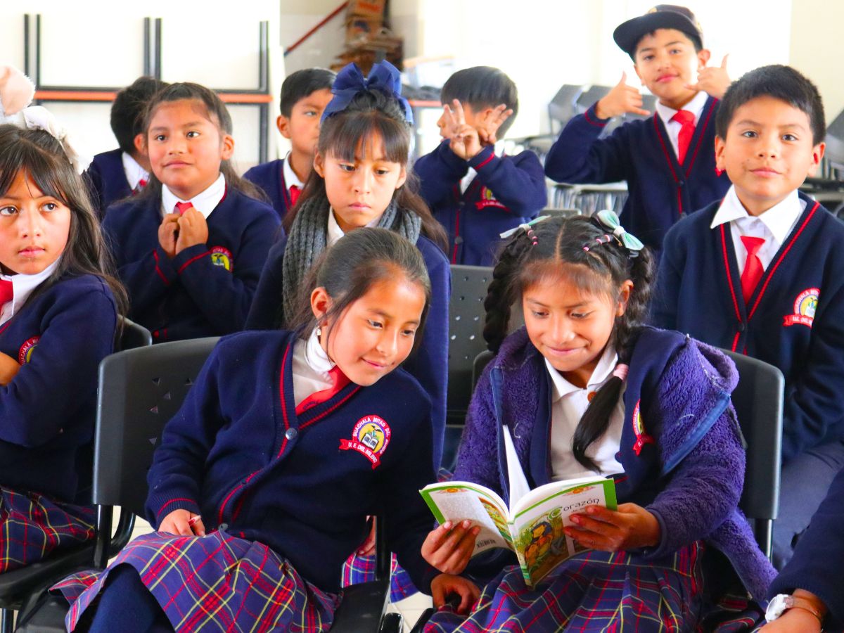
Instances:
[[[630,174],[629,140],[624,125],[599,139],[609,119],[599,119],[593,104],[566,123],[545,158],[545,175],[557,182],[616,182]]]

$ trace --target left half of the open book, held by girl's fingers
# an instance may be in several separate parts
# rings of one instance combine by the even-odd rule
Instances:
[[[480,527],[472,555],[487,549],[511,549],[506,506],[492,490],[465,481],[450,481],[425,486],[419,494],[438,522],[468,519]]]

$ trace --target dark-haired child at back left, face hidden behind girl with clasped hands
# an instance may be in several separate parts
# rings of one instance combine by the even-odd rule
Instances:
[[[149,156],[143,146],[143,111],[152,95],[164,86],[156,78],[139,77],[115,97],[111,106],[111,131],[120,147],[97,154],[85,172],[100,219],[111,203],[140,191],[149,181]]]

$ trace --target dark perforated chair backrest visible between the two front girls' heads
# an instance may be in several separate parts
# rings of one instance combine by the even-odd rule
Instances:
[[[472,365],[484,343],[484,299],[492,268],[452,265],[448,305],[448,398],[450,419],[462,421],[472,396]]]

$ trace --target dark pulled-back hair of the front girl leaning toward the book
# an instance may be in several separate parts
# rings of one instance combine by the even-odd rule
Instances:
[[[422,338],[430,306],[428,268],[416,246],[387,229],[364,227],[350,231],[322,252],[302,284],[299,309],[290,322],[291,328],[297,330],[301,338],[307,338],[317,326],[317,319],[311,311],[311,292],[315,288],[326,289],[331,297],[332,307],[325,318],[332,320],[365,295],[374,284],[399,279],[399,275],[425,289],[425,309],[419,319],[415,348]]]

